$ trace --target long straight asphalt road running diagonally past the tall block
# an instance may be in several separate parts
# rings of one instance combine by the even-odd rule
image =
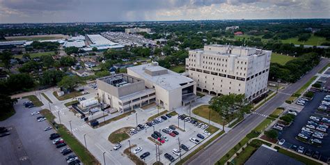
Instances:
[[[269,100],[265,104],[263,104],[259,109],[256,110],[256,112],[269,115],[276,109],[278,106],[283,104],[285,100],[292,95],[295,91],[297,91],[301,86],[304,86],[304,84],[311,79],[319,70],[322,70],[325,65],[329,63],[329,60],[327,58],[322,58],[322,61],[319,65],[317,65],[313,70],[308,72],[304,75],[304,77],[301,77],[299,81],[297,81],[294,84],[291,84],[287,88],[285,88],[281,93],[278,93],[275,95],[272,100]],[[249,134],[252,129],[257,127],[262,120],[264,120],[265,117],[260,116],[258,114],[251,114],[247,118],[242,121],[239,125],[237,125],[234,129],[230,130],[228,134],[225,134],[224,136],[221,136],[221,138],[215,140],[212,145],[210,145],[208,148],[205,148],[198,152],[194,157],[191,157],[187,162],[184,164],[215,164],[221,157],[226,155],[226,153],[233,148],[239,141],[241,141],[246,134]]]

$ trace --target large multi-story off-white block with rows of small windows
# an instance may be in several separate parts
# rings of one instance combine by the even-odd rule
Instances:
[[[267,90],[271,51],[255,47],[205,45],[189,51],[186,70],[197,90],[213,95],[245,94],[253,99]]]

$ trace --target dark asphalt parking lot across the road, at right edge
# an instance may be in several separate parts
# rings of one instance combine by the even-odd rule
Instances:
[[[304,109],[298,113],[292,125],[290,125],[290,127],[285,127],[285,129],[280,132],[278,139],[285,139],[285,144],[283,146],[287,148],[292,148],[293,145],[298,147],[303,146],[305,148],[304,152],[306,152],[308,149],[313,150],[313,152],[320,152],[320,160],[327,162],[327,159],[330,157],[330,137],[327,133],[324,134],[324,138],[322,139],[322,146],[319,147],[308,143],[303,143],[296,139],[297,135],[301,133],[301,128],[305,127],[308,123],[310,116],[317,116],[315,115],[315,111],[317,111],[317,107],[319,107],[320,102],[327,94],[329,93],[315,93],[313,100],[305,104]]]

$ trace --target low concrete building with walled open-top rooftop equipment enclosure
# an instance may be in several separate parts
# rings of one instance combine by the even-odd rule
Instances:
[[[124,113],[155,102],[155,89],[146,88],[145,81],[128,74],[114,74],[97,79],[100,100]]]

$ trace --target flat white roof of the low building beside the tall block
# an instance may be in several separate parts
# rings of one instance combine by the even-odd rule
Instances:
[[[180,88],[184,84],[194,81],[189,77],[184,77],[181,74],[163,68],[159,65],[153,65],[152,63],[129,67],[127,68],[127,70],[131,70],[132,72],[141,75],[141,77],[143,77],[144,79],[147,79],[148,81],[152,81],[153,84],[157,84],[158,86],[161,86],[167,91],[172,91],[173,89]],[[149,70],[151,72],[158,72],[158,71],[166,71],[166,72],[161,72],[159,75],[151,75],[148,74],[146,70]]]

